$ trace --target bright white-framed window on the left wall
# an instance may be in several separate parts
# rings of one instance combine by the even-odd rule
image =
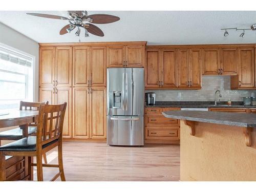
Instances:
[[[0,110],[33,101],[33,57],[0,44]]]

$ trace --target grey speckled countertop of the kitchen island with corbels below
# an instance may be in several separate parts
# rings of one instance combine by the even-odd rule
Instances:
[[[167,118],[185,119],[207,123],[217,123],[233,126],[256,127],[255,114],[239,114],[208,111],[166,111],[162,113]]]

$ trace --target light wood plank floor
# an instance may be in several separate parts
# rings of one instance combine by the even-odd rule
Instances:
[[[47,153],[47,160],[57,163],[57,147]],[[180,180],[179,145],[119,147],[69,141],[63,143],[63,163],[67,181]],[[44,168],[44,180],[49,181],[55,173],[57,168]]]

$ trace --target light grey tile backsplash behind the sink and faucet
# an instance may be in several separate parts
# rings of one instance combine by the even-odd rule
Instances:
[[[155,92],[156,101],[214,101],[216,90],[221,91],[221,101],[243,101],[256,90],[230,90],[230,76],[202,76],[201,90],[146,90]]]

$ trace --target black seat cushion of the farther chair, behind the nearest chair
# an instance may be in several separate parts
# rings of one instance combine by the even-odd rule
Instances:
[[[29,135],[36,133],[36,126],[29,126],[28,132],[29,132]],[[4,138],[8,138],[9,140],[21,139],[22,138],[22,129],[20,129],[18,127],[16,129],[0,132],[0,139],[4,140]]]

